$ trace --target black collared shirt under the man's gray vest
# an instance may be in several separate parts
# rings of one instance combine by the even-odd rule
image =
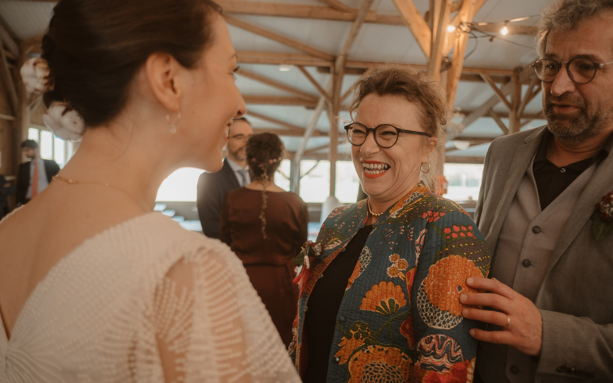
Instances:
[[[573,162],[563,167],[557,167],[547,159],[547,146],[549,146],[549,142],[553,138],[554,135],[547,130],[532,166],[536,188],[538,189],[538,197],[541,202],[541,211],[545,210],[558,195],[562,194],[585,169],[592,166],[594,162],[603,161],[609,155],[613,146],[612,134],[596,156]]]

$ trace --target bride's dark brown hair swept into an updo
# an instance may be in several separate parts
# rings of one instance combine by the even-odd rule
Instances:
[[[66,102],[86,126],[108,123],[126,105],[132,80],[151,54],[168,53],[181,66],[196,67],[219,12],[210,0],[59,1],[42,40],[53,85],[45,105]]]

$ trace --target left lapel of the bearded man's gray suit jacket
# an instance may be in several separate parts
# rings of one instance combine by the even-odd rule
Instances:
[[[511,202],[515,197],[517,188],[519,188],[519,184],[522,181],[522,178],[524,178],[524,174],[526,173],[526,169],[528,169],[530,161],[532,161],[532,158],[535,156],[539,145],[541,145],[541,142],[543,141],[543,136],[546,129],[546,126],[536,128],[533,134],[528,135],[528,137],[525,138],[524,145],[517,147],[515,156],[511,162],[511,167],[509,168],[509,173],[506,176],[506,182],[503,186],[500,203],[498,204],[498,208],[496,209],[494,218],[492,219],[492,229],[489,231],[487,238],[485,238],[487,246],[492,252],[496,248],[498,234],[500,234],[500,229],[502,228],[506,214],[509,212],[509,207],[511,207]],[[498,195],[498,193],[494,193],[493,195]]]

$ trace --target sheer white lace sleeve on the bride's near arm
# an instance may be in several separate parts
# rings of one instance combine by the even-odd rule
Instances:
[[[226,246],[218,250],[184,257],[156,289],[166,381],[300,382],[243,265]]]

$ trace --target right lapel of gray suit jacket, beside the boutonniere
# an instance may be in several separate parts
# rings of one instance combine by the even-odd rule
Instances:
[[[547,266],[546,275],[554,267],[558,259],[564,254],[568,246],[574,241],[577,234],[585,226],[585,222],[590,219],[594,212],[594,206],[596,203],[602,200],[603,195],[607,194],[613,189],[613,153],[609,153],[609,156],[604,159],[603,162],[598,165],[592,178],[585,186],[584,191],[579,197],[579,202],[573,208],[573,213],[568,218],[560,239],[555,246],[554,252],[551,254],[549,265]],[[595,240],[594,238],[592,238]]]

